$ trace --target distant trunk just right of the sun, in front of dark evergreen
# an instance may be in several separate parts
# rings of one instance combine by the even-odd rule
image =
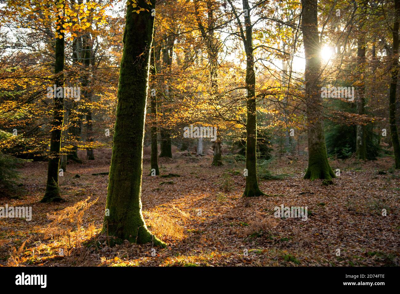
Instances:
[[[362,33],[362,32],[360,32]],[[357,59],[358,59],[358,73],[362,85],[358,87],[358,97],[356,99],[356,110],[360,115],[365,114],[365,80],[364,80],[364,67],[365,67],[365,39],[361,35],[358,38],[357,46]],[[367,159],[367,145],[366,145],[366,133],[365,125],[357,125],[356,127],[356,156],[358,159]]]

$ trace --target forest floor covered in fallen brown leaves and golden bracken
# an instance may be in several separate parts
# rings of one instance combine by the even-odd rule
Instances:
[[[68,165],[60,177],[62,203],[39,203],[47,163],[20,169],[20,199],[1,197],[0,206],[32,207],[32,220],[0,219],[1,265],[399,265],[400,172],[390,169],[392,157],[331,161],[341,174],[328,186],[302,179],[305,158],[275,160],[272,174],[286,176],[259,181],[264,193],[275,196],[250,199],[242,197],[244,163],[232,157],[221,167],[210,166],[211,156],[160,159],[160,173],[172,174],[169,178],[148,175],[147,157],[143,214],[149,229],[167,243],[163,249],[128,242],[109,247],[98,237],[108,175],[92,174],[108,172],[110,165],[109,156],[98,154],[95,161]],[[275,218],[274,207],[281,205],[308,207],[307,221]]]

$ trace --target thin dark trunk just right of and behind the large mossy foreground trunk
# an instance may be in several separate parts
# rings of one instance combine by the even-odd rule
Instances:
[[[150,74],[152,79],[156,77],[156,63],[155,63],[155,44],[152,49],[152,54],[150,58]],[[151,156],[150,156],[150,169],[156,171],[156,175],[160,175],[158,170],[158,142],[157,142],[157,96],[156,89],[154,92],[150,92],[150,107],[152,113],[152,125],[151,125]],[[151,171],[150,171],[151,173]]]

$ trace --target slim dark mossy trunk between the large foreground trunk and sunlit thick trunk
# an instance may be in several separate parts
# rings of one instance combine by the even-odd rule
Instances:
[[[250,20],[250,6],[248,0],[243,0],[243,10],[248,13],[244,15],[244,24],[246,32],[246,42],[244,48],[246,51],[246,97],[247,120],[246,120],[246,169],[248,175],[246,177],[246,188],[243,196],[256,197],[264,195],[258,187],[257,181],[257,113],[256,113],[256,75],[254,73],[254,56],[253,56],[253,36],[252,25]]]

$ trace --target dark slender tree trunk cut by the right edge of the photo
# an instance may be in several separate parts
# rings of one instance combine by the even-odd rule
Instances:
[[[400,142],[398,137],[397,125],[396,125],[396,90],[397,90],[397,79],[399,72],[399,22],[400,22],[400,0],[394,1],[394,7],[396,10],[396,20],[393,25],[393,63],[391,66],[392,78],[390,81],[390,93],[389,93],[389,124],[390,124],[390,137],[392,139],[392,145],[394,150],[394,167],[400,169]]]

